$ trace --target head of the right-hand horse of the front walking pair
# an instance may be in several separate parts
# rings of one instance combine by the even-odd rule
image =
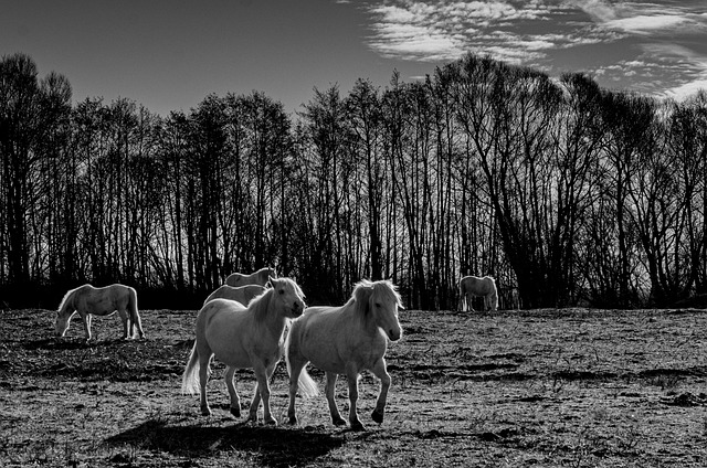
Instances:
[[[391,341],[400,340],[402,327],[398,321],[398,310],[404,310],[395,286],[389,280],[361,280],[354,289],[356,301],[366,307],[365,313]]]

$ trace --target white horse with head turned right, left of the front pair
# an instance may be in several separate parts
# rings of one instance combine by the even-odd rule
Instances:
[[[211,358],[226,365],[225,384],[231,396],[231,414],[241,416],[241,401],[233,385],[236,369],[253,369],[257,384],[249,421],[257,422],[263,400],[263,421],[277,424],[270,411],[270,385],[275,365],[283,355],[283,332],[288,319],[305,308],[299,286],[289,278],[270,278],[272,288],[247,307],[228,299],[207,302],[197,316],[197,339],[182,375],[182,393],[201,393],[201,413],[211,414],[207,401],[207,381]],[[197,381],[197,374],[199,380]]]

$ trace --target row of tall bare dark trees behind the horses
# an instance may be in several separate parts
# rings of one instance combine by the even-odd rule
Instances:
[[[162,117],[72,104],[18,53],[0,61],[0,155],[6,302],[88,281],[202,300],[263,266],[315,304],[390,278],[412,308],[455,308],[467,274],[495,276],[502,307],[707,292],[705,92],[467,54],[422,81],[315,88],[294,116],[252,92]]]

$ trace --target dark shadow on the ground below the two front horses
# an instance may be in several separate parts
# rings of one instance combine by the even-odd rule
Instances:
[[[106,439],[110,445],[129,445],[147,450],[188,457],[209,457],[222,450],[242,450],[260,458],[266,467],[306,466],[346,442],[342,434],[316,429],[253,426],[170,426],[150,419]]]

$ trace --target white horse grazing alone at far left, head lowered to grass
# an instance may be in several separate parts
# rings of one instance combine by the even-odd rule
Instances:
[[[78,312],[84,322],[86,341],[91,340],[91,316],[110,316],[117,310],[123,320],[123,339],[133,338],[137,328],[140,338],[145,338],[140,315],[137,311],[137,292],[129,286],[110,285],[94,288],[83,285],[64,295],[56,312],[54,332],[63,337],[68,330],[74,313]]]

